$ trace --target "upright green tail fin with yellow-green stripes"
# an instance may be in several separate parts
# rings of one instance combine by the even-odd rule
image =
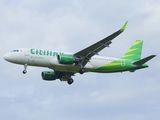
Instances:
[[[122,59],[140,60],[142,52],[142,40],[136,40],[131,48],[122,56]]]

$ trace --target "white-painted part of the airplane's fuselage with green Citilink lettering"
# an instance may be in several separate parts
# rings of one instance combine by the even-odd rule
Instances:
[[[70,71],[73,73],[79,71],[80,66],[78,65],[74,66],[73,64],[67,64],[67,65],[59,64],[57,59],[58,54],[73,55],[72,53],[62,53],[50,50],[22,48],[7,53],[4,56],[4,59],[15,64],[21,64],[21,65],[27,64],[29,66],[48,67],[56,71],[63,71],[63,72]],[[85,65],[85,69],[86,71],[92,71],[115,60],[117,60],[117,58],[95,55]]]

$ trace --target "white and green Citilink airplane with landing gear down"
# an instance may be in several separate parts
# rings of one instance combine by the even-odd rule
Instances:
[[[23,74],[27,72],[27,66],[47,67],[52,71],[42,71],[43,80],[60,79],[60,81],[67,81],[69,85],[74,82],[72,76],[76,73],[134,72],[148,67],[146,62],[156,56],[150,55],[141,59],[142,40],[136,40],[121,58],[105,57],[98,54],[104,48],[109,47],[112,40],[126,29],[127,24],[128,21],[110,36],[76,53],[20,48],[5,54],[4,59],[14,64],[23,65]]]

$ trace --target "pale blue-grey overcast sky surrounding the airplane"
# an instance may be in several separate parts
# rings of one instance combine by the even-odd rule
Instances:
[[[78,52],[127,29],[100,55],[121,57],[144,40],[142,57],[155,54],[149,68],[135,73],[76,74],[74,83],[47,82],[47,68],[6,62],[12,49],[33,47]],[[159,0],[0,0],[1,120],[159,120]]]

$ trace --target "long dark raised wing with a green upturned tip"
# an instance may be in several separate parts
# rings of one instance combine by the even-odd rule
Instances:
[[[103,50],[105,47],[109,47],[109,45],[112,43],[111,41],[125,30],[127,23],[128,21],[126,21],[126,23],[123,25],[123,27],[120,30],[100,40],[99,42],[75,53],[74,56],[77,59],[80,59],[81,64],[85,66],[92,56],[98,54],[98,52]]]

